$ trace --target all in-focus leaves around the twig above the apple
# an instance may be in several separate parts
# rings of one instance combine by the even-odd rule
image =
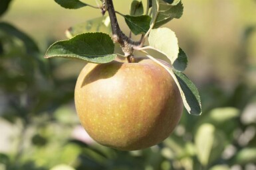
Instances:
[[[55,1],[66,9],[92,6],[79,0]],[[104,5],[107,5],[108,1],[100,2],[102,6],[98,6],[98,8],[104,10]],[[160,26],[172,21],[172,19],[182,17],[183,10],[184,7],[180,0],[154,0],[148,1],[146,5],[142,1],[134,0],[131,3],[129,15],[123,15],[118,11],[116,13],[124,17],[130,32],[134,35],[142,36],[140,46],[130,44],[130,46],[134,46],[132,47],[134,50],[144,52],[148,56],[149,54],[146,50],[151,49],[166,56],[171,65],[166,69],[175,79],[185,107],[190,114],[199,115],[201,114],[201,101],[197,88],[184,73],[181,73],[187,67],[188,57],[182,48],[178,46],[176,34],[169,28],[160,28]],[[51,45],[45,54],[45,58],[76,58],[98,64],[115,60],[116,56],[120,55],[115,54],[115,46],[110,38],[109,28],[110,26],[115,27],[114,24],[117,24],[113,22],[109,17],[102,17],[87,21],[85,24],[70,27],[66,32],[70,39],[55,42]],[[106,34],[102,34],[102,32]],[[148,46],[143,46],[146,38],[148,38],[149,44]],[[127,55],[125,54],[125,56]]]

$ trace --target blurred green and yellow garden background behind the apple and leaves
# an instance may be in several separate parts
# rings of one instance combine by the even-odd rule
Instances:
[[[158,146],[116,151],[93,142],[76,116],[74,85],[85,63],[43,59],[66,28],[100,11],[1,0],[0,170],[255,170],[256,1],[182,2],[183,17],[166,26],[189,56],[186,74],[199,87],[203,114],[184,110]],[[131,0],[114,3],[128,14]]]

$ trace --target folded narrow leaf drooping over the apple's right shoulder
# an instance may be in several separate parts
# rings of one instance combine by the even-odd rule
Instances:
[[[166,65],[156,58],[146,55],[148,58],[153,60],[154,62],[162,65],[170,75],[172,75],[176,85],[180,90],[180,95],[182,96],[182,101],[184,103],[185,108],[188,110],[190,114],[200,115],[201,114],[201,100],[199,97],[199,92],[195,85],[188,79],[184,73],[180,71],[173,70],[170,65]]]

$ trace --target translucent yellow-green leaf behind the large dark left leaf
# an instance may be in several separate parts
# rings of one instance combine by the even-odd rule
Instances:
[[[91,19],[84,23],[76,24],[66,30],[66,37],[72,38],[78,34],[87,32],[111,33],[110,18],[108,16]]]

